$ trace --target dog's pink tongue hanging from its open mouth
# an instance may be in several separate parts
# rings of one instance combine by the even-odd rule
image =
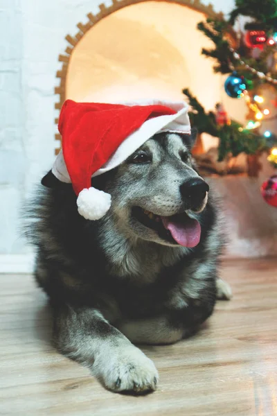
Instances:
[[[169,218],[161,218],[163,227],[171,232],[172,238],[183,247],[193,248],[200,241],[201,227],[197,220],[186,219],[186,223],[181,221],[170,221]]]

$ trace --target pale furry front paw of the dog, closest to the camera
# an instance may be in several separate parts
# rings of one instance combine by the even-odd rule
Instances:
[[[142,394],[157,388],[157,369],[139,348],[116,349],[111,357],[105,356],[97,361],[94,374],[109,390]]]

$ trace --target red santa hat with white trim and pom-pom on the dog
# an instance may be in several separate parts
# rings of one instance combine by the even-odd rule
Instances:
[[[184,102],[102,104],[65,101],[58,125],[62,150],[52,173],[72,183],[78,212],[102,218],[111,206],[109,193],[91,187],[91,177],[115,168],[158,132],[190,134]]]

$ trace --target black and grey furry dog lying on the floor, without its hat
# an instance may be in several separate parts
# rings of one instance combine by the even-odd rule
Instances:
[[[155,390],[157,369],[135,345],[176,343],[211,316],[216,298],[231,297],[217,276],[220,209],[194,165],[195,137],[159,133],[93,177],[112,197],[100,220],[80,216],[71,184],[51,171],[30,204],[55,346],[114,392]]]

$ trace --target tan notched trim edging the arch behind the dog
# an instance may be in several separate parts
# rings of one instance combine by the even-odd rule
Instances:
[[[62,104],[65,101],[66,98],[66,76],[67,71],[69,67],[69,62],[71,58],[71,54],[75,48],[75,46],[78,45],[78,42],[82,39],[82,37],[94,26],[100,21],[101,19],[104,19],[105,17],[111,15],[111,13],[114,13],[121,8],[125,8],[127,6],[131,6],[133,4],[137,3],[144,3],[145,1],[150,0],[112,0],[111,6],[105,6],[105,3],[100,3],[99,12],[96,15],[93,15],[92,13],[89,13],[87,15],[88,21],[87,23],[83,24],[82,22],[77,24],[77,27],[79,29],[79,32],[75,34],[75,36],[66,35],[65,39],[71,46],[67,46],[64,54],[59,55],[59,61],[63,62],[62,69],[57,71],[56,77],[60,78],[60,85],[57,85],[55,87],[55,94],[60,95],[60,100],[58,103],[55,103],[55,109],[60,110],[62,108]],[[154,0],[154,1],[165,1],[165,0]],[[201,0],[166,0],[168,3],[177,3],[181,6],[186,6],[188,8],[191,8],[193,10],[196,10],[197,12],[202,12],[204,15],[208,17],[217,17],[222,18],[222,13],[216,13],[213,10],[213,6],[211,4],[208,4],[208,6],[201,3]],[[58,117],[55,118],[55,124],[58,123]],[[56,140],[61,140],[62,137],[60,135],[55,135]],[[59,149],[55,149],[55,154],[59,152]]]

